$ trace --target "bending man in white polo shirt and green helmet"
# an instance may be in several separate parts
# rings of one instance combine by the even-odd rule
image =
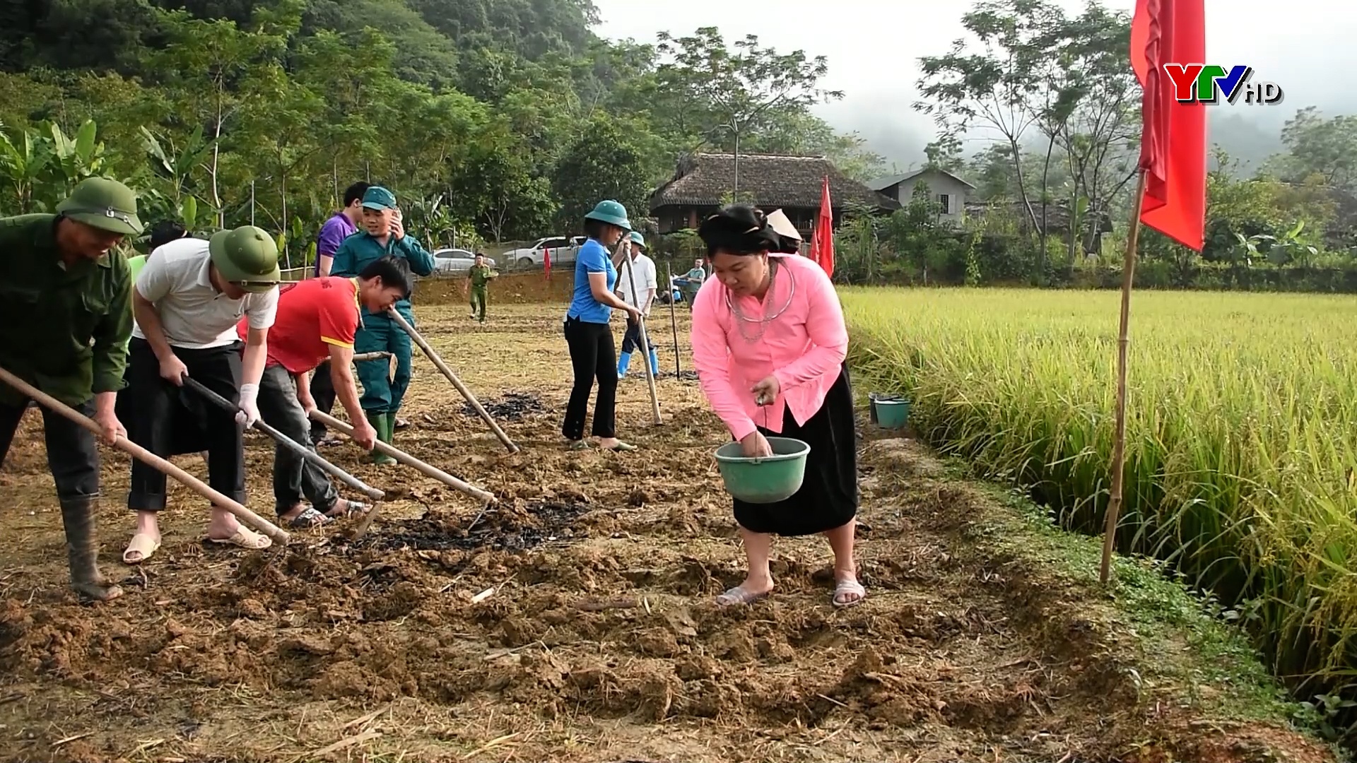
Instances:
[[[210,242],[191,238],[160,247],[132,289],[136,327],[128,387],[118,394],[128,439],[161,458],[206,451],[208,483],[242,504],[242,425],[259,420],[255,399],[278,310],[278,247],[265,231],[243,225]],[[248,323],[243,358],[236,334],[242,318]],[[185,376],[240,411],[221,410],[185,388]],[[160,547],[156,512],[166,508],[166,475],[133,460],[128,508],[137,512],[137,531],[122,561],[138,565]],[[243,548],[271,544],[218,506],[212,508],[208,539]]]

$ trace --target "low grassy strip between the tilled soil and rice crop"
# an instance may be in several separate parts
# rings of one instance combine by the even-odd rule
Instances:
[[[866,407],[868,390],[883,380],[862,368],[852,373],[859,405]],[[1091,671],[1103,673],[1096,680],[1109,692],[1125,696],[1136,715],[1132,725],[1141,726],[1129,737],[1117,734],[1134,740],[1118,751],[1121,759],[1206,759],[1189,740],[1200,736],[1197,741],[1208,743],[1200,720],[1208,718],[1213,730],[1262,725],[1296,732],[1334,760],[1350,760],[1330,741],[1333,729],[1322,730],[1331,713],[1291,699],[1247,631],[1223,616],[1229,610],[1145,557],[1115,555],[1111,582],[1101,584],[1098,538],[1061,529],[1052,510],[1018,487],[978,475],[968,460],[920,447],[930,448],[940,464],[939,485],[978,493],[966,504],[982,510],[954,528],[966,540],[962,554],[977,577],[1003,578],[1012,611],[1045,620],[1048,650],[1102,656]],[[1170,730],[1174,718],[1187,715],[1197,718],[1190,728]],[[1274,752],[1280,751],[1262,751],[1261,759]]]

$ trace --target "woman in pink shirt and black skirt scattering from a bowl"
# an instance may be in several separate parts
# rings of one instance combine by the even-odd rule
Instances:
[[[788,255],[799,242],[779,236],[757,209],[726,206],[697,235],[714,269],[692,305],[703,394],[748,456],[772,455],[767,436],[810,444],[795,496],[734,501],[749,572],[716,603],[748,604],[772,592],[773,535],[822,534],[835,553],[833,604],[858,604],[867,595],[854,562],[858,433],[839,295],[818,265]]]

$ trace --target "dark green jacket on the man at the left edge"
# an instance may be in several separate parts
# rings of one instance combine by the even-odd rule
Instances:
[[[0,368],[77,406],[122,388],[132,270],[111,251],[65,267],[53,215],[0,217]],[[23,396],[0,383],[0,403]]]

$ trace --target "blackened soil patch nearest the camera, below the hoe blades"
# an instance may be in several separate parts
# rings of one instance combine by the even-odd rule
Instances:
[[[470,528],[432,513],[419,519],[380,523],[380,531],[365,535],[354,550],[411,551],[522,551],[550,540],[577,538],[582,531],[571,527],[589,506],[535,501],[521,506],[489,509]]]

